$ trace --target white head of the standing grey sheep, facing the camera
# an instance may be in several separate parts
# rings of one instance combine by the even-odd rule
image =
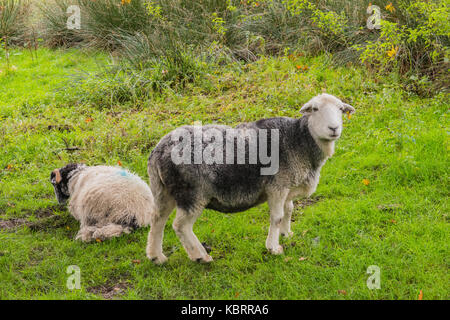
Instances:
[[[311,134],[321,141],[335,141],[342,133],[342,114],[355,108],[330,94],[320,94],[309,100],[300,112],[308,116]]]

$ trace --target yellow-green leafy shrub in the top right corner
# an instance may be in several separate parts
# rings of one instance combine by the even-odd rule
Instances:
[[[377,73],[407,75],[406,88],[422,95],[448,89],[450,9],[445,1],[399,2],[392,19],[383,20],[380,36],[357,46],[361,61]],[[434,85],[429,84],[434,80]]]

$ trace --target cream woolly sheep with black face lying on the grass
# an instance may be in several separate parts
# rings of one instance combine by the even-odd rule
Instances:
[[[80,221],[75,239],[118,237],[150,223],[153,196],[138,176],[118,167],[68,164],[51,173],[58,202]]]

